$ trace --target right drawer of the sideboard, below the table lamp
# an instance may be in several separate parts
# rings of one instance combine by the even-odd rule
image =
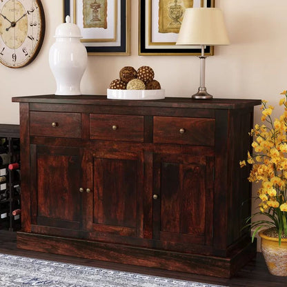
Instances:
[[[214,146],[215,119],[154,117],[153,142]]]

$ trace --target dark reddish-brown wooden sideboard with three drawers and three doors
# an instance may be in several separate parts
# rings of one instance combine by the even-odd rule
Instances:
[[[230,277],[248,230],[253,108],[260,100],[14,97],[22,229],[46,253]]]

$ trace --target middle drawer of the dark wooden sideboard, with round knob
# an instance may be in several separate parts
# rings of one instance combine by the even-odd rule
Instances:
[[[90,139],[143,142],[143,116],[91,114]]]

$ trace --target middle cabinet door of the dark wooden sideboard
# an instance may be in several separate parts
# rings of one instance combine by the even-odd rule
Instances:
[[[90,154],[93,192],[87,197],[86,226],[92,239],[121,241],[143,230],[141,152],[102,150]]]

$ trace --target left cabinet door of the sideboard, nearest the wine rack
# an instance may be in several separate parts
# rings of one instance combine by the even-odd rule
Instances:
[[[32,231],[74,236],[67,230],[81,230],[83,150],[32,145],[30,160]]]

